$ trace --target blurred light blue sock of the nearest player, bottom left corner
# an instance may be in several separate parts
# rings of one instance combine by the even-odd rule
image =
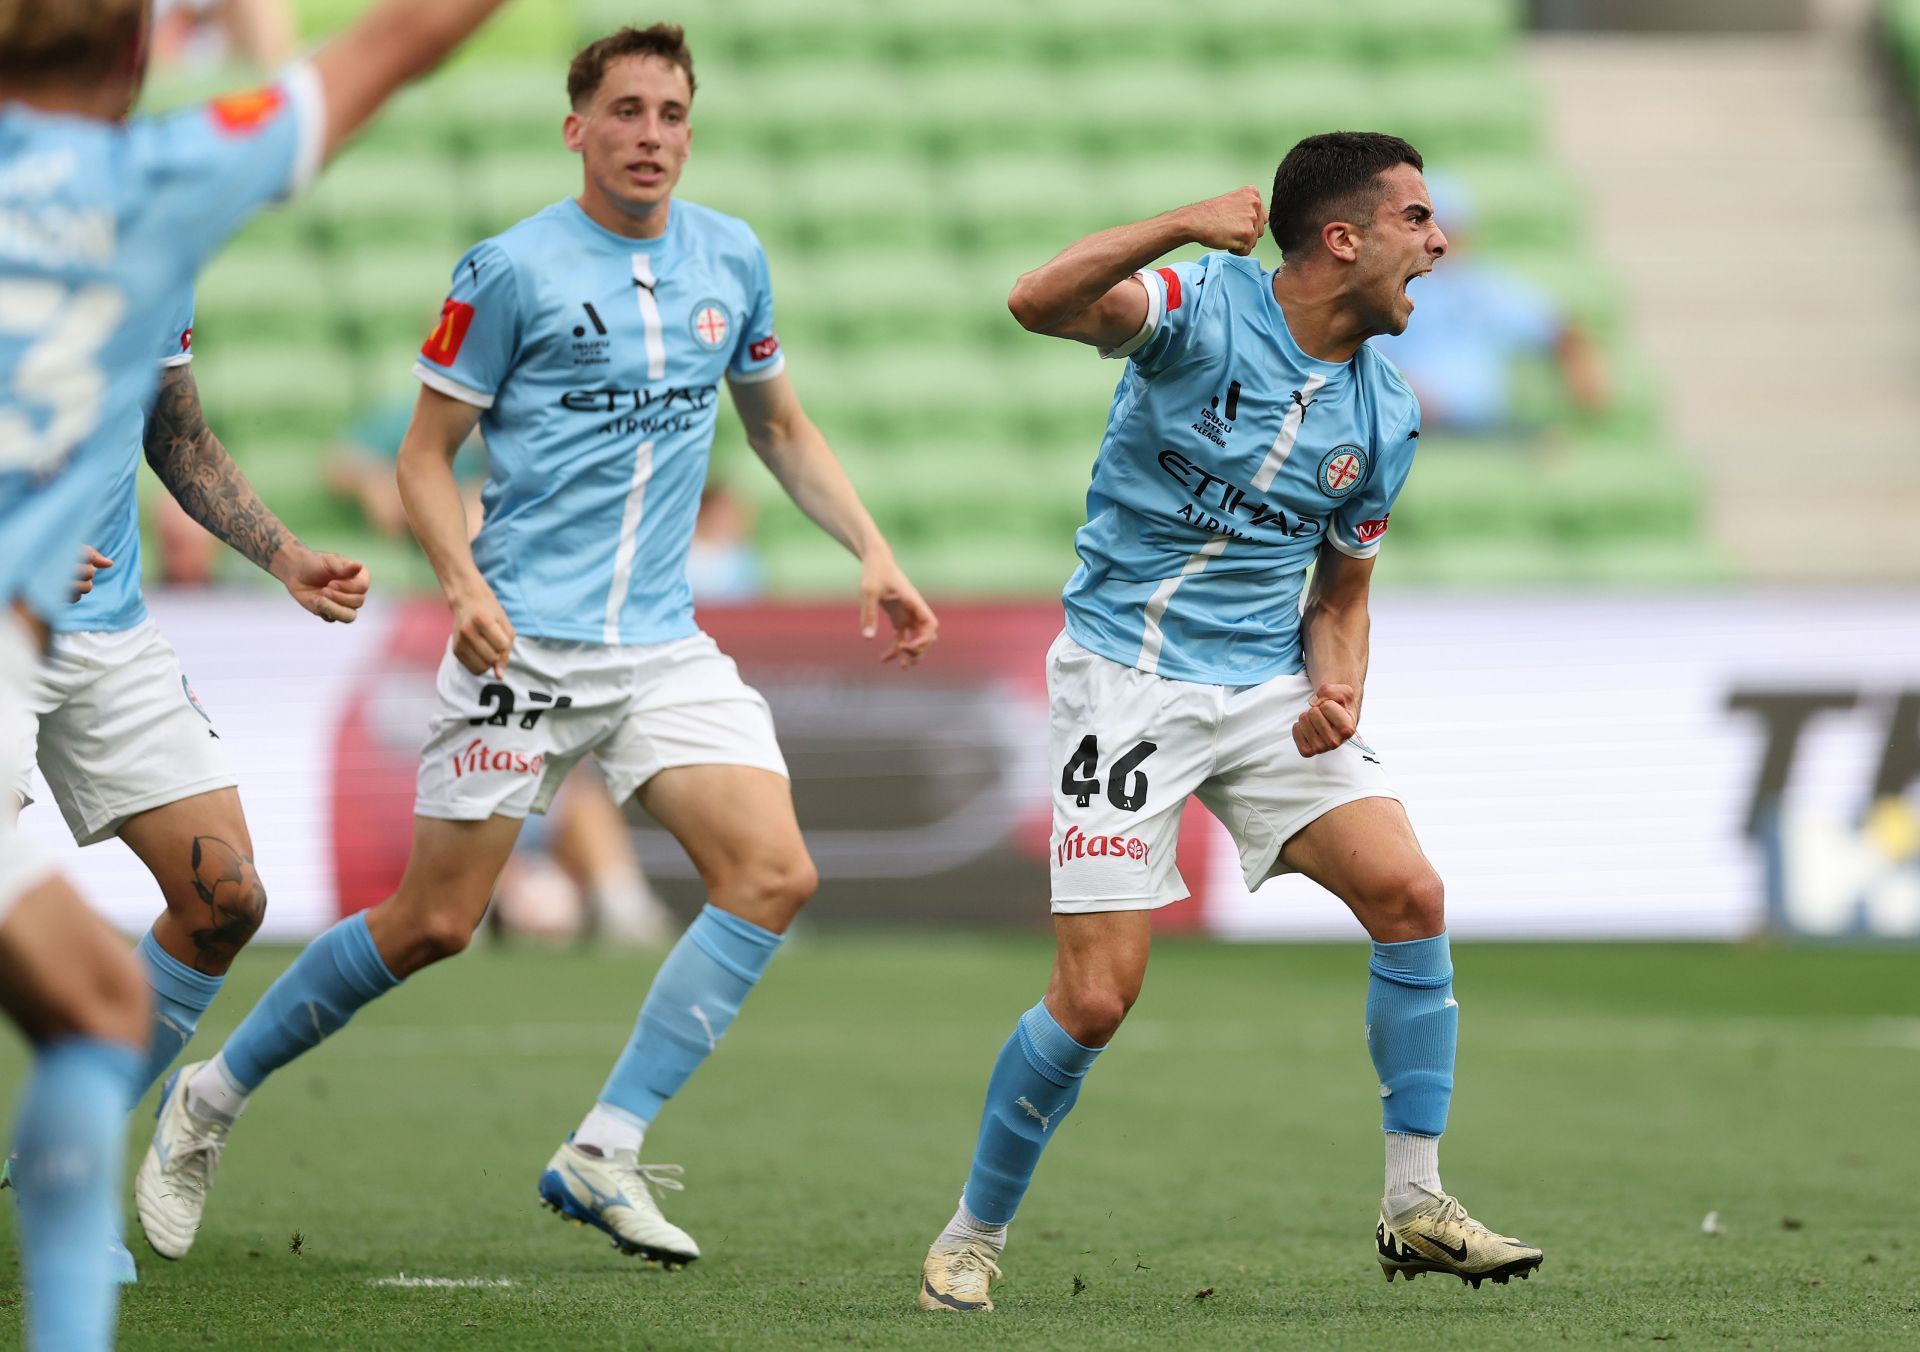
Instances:
[[[33,1348],[113,1346],[119,1283],[109,1244],[138,1074],[136,1049],[94,1037],[67,1037],[35,1056],[13,1131]]]

